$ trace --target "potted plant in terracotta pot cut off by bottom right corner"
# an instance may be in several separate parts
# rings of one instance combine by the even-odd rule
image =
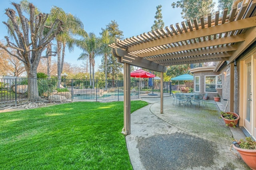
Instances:
[[[232,145],[239,152],[244,162],[251,169],[256,170],[256,142],[251,137],[246,137],[245,140],[234,141]]]

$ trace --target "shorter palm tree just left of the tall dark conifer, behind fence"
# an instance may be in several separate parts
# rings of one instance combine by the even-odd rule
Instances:
[[[95,36],[94,33],[89,33],[88,37],[84,37],[82,40],[77,40],[76,44],[80,49],[83,50],[82,54],[78,58],[86,59],[89,57],[90,61],[90,85],[94,89],[94,67],[95,67],[95,57],[100,54],[100,39]],[[92,68],[92,71],[91,71]],[[91,76],[92,73],[92,76]],[[91,84],[92,82],[92,84]]]

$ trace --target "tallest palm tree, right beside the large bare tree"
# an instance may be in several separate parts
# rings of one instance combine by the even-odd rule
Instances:
[[[57,67],[58,67],[58,79],[61,79],[61,73],[63,70],[64,56],[66,45],[69,51],[74,50],[75,36],[86,37],[87,33],[84,31],[84,25],[82,21],[73,16],[72,14],[66,14],[62,8],[56,6],[52,7],[50,16],[52,20],[59,19],[63,22],[62,32],[56,36],[57,41]],[[61,53],[62,52],[62,53]]]

